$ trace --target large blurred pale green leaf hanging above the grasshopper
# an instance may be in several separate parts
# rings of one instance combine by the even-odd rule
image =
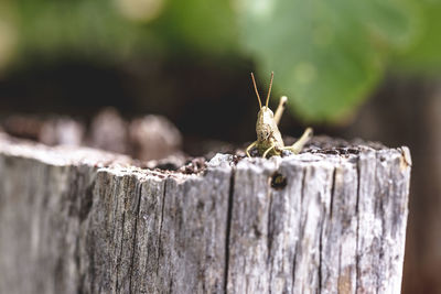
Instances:
[[[337,121],[379,81],[390,50],[408,46],[418,13],[408,1],[243,0],[240,40],[259,73],[305,120]]]

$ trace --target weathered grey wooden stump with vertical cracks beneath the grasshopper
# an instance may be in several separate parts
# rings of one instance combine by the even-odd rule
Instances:
[[[399,293],[407,148],[143,170],[0,133],[0,293]]]

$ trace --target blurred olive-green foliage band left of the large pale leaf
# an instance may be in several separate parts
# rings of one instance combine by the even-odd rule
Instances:
[[[152,1],[163,2],[163,9],[149,21],[125,17],[117,0],[11,1],[20,20],[19,51],[110,61],[142,53],[222,54],[237,47],[234,14],[226,1]]]

